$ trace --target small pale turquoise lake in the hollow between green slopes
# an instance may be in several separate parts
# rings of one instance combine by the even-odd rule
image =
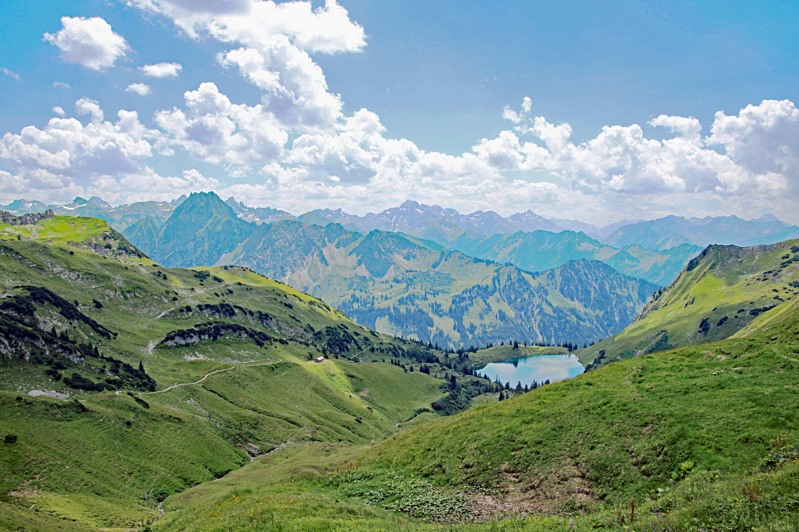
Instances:
[[[499,380],[505,384],[511,383],[515,388],[516,383],[522,382],[522,387],[532,384],[536,380],[539,384],[549,379],[570,379],[585,371],[577,355],[534,355],[532,357],[511,358],[509,361],[491,362],[479,370],[480,375],[486,375],[491,380]]]

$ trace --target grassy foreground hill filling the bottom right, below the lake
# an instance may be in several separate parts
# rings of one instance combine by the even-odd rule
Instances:
[[[796,530],[797,330],[790,302],[735,338],[407,427],[358,467],[289,447],[170,497],[156,530]]]

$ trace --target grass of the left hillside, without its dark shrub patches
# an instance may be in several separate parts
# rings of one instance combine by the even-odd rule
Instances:
[[[95,227],[91,219],[70,219],[81,222],[85,227],[74,232],[84,238],[108,229]],[[81,246],[79,238],[75,241],[70,239]],[[78,519],[86,526],[146,522],[157,500],[240,467],[248,462],[245,451],[267,451],[289,440],[369,443],[396,431],[394,424],[442,395],[439,380],[388,363],[360,364],[341,357],[313,364],[308,355],[319,356],[329,346],[326,337],[311,345],[292,338],[307,333],[305,324],[317,331],[343,326],[360,335],[360,348],[351,345],[344,353],[353,360],[364,356],[368,346],[376,348],[368,352],[375,356],[381,349],[396,355],[413,344],[393,337],[381,341],[340,311],[252,271],[200,270],[221,282],[202,282],[197,270],[167,270],[146,258],[105,258],[75,247],[2,242],[4,294],[20,293],[14,289],[19,285],[47,286],[68,301],[77,300],[82,313],[118,337],[103,340],[50,305],[37,307],[42,329],[68,329],[70,338],[92,341],[107,356],[134,366],[143,361],[158,388],[137,393],[150,405],[142,408],[124,391],[80,392],[46,376],[47,365],[13,354],[3,357],[0,389],[54,390],[85,401],[2,392],[0,433],[18,435],[17,443],[8,446],[13,452],[3,454],[0,462],[3,501],[35,503],[40,514]],[[101,309],[91,303],[95,299]],[[240,314],[227,319],[197,313],[198,304],[223,301],[267,312],[274,321],[264,327]],[[185,305],[194,312],[179,312]],[[209,320],[260,328],[288,340],[263,348],[229,336],[185,347],[159,345],[170,331]],[[402,360],[407,364],[407,358]],[[66,375],[104,376],[101,361],[64,362],[70,366]],[[166,389],[173,384],[180,385]]]

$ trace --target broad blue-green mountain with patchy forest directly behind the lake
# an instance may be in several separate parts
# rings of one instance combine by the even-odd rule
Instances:
[[[225,258],[344,309],[360,324],[439,345],[595,340],[656,287],[595,261],[531,274],[407,234],[299,221],[263,225]]]

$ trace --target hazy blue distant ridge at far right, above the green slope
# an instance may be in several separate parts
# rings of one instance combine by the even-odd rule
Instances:
[[[685,243],[694,246],[757,246],[789,238],[799,238],[799,227],[788,226],[777,219],[764,222],[746,221],[737,216],[709,216],[704,219],[666,216],[620,227],[602,243],[614,247],[639,244],[650,249],[665,250]]]

